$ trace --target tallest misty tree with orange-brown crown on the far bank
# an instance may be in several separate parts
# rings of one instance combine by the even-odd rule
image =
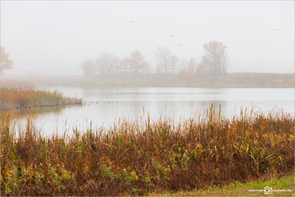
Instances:
[[[209,72],[214,77],[219,76],[222,73],[222,57],[225,49],[222,42],[211,41],[203,45],[204,54],[203,59],[205,60]]]

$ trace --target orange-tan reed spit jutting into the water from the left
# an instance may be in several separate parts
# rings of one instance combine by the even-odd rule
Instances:
[[[1,110],[15,110],[25,107],[57,106],[82,104],[83,99],[77,96],[64,96],[57,90],[39,90],[33,87],[1,88]]]

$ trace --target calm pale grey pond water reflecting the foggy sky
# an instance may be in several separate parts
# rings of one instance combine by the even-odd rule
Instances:
[[[42,89],[58,89],[65,95],[81,96],[86,106],[40,107],[22,111],[25,116],[32,110],[39,117],[44,133],[63,132],[74,125],[80,129],[92,124],[100,127],[112,124],[115,118],[127,116],[134,120],[145,114],[152,117],[174,116],[186,118],[199,109],[207,109],[212,103],[216,110],[221,104],[225,116],[240,112],[243,108],[259,107],[263,111],[274,107],[294,113],[294,88],[156,88],[156,87],[69,87],[39,86]],[[257,109],[256,108],[256,109]],[[65,122],[67,121],[67,122]]]

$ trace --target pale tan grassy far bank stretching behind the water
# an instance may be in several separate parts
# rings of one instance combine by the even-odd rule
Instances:
[[[294,88],[294,73],[227,73],[219,78],[189,78],[187,76],[119,74],[113,78],[96,76],[42,76],[36,78],[1,78],[1,87],[25,85],[63,86],[155,86],[155,87],[208,87],[208,88]]]

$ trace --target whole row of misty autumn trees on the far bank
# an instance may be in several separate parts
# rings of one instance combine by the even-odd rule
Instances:
[[[181,78],[220,77],[224,76],[231,68],[230,58],[222,42],[211,41],[203,45],[204,55],[199,62],[194,58],[187,60],[177,57],[166,46],[159,46],[154,51],[157,65],[153,68],[145,60],[139,50],[133,50],[128,57],[119,59],[112,52],[102,52],[96,60],[85,60],[80,68],[83,74],[92,77],[106,75],[115,77],[119,73],[164,73],[167,75],[180,75]]]

